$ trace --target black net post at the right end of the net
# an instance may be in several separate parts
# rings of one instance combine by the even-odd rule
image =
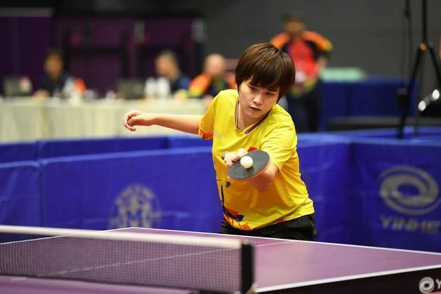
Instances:
[[[254,293],[254,245],[243,242],[240,250],[241,291],[243,294]]]

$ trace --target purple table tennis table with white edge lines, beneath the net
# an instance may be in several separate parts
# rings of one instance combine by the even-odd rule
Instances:
[[[133,227],[114,232],[250,242],[254,244],[256,293],[441,293],[441,253]],[[198,292],[0,275],[0,293]]]

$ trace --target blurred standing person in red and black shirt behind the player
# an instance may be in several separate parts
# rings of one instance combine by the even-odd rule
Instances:
[[[283,17],[285,32],[274,36],[270,43],[287,52],[296,66],[296,83],[287,92],[287,110],[296,131],[317,132],[321,115],[320,72],[326,67],[332,44],[324,36],[305,30],[299,14]]]

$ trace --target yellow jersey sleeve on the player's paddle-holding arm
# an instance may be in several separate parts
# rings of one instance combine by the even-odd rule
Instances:
[[[282,169],[285,162],[296,150],[297,135],[294,127],[290,125],[280,125],[265,136],[261,149],[266,151],[279,169]]]

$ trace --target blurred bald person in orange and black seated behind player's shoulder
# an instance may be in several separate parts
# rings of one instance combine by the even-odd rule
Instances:
[[[227,72],[225,58],[220,54],[210,54],[205,58],[204,71],[196,76],[189,86],[190,98],[202,98],[209,105],[222,90],[236,89],[234,74]]]

